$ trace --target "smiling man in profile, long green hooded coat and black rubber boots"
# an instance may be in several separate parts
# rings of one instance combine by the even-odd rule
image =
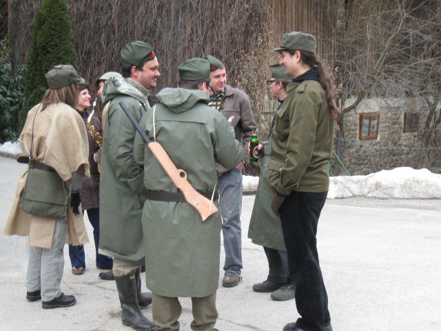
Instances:
[[[128,43],[121,50],[124,79],[110,78],[103,90],[103,103],[110,102],[103,118],[100,205],[101,254],[114,258],[113,272],[118,290],[123,324],[136,330],[154,330],[139,306],[152,302],[141,293],[141,265],[144,264],[141,214],[145,201],[144,173],[134,161],[135,130],[119,106],[125,103],[139,121],[152,106],[148,90],[160,76],[152,46],[143,41]]]

